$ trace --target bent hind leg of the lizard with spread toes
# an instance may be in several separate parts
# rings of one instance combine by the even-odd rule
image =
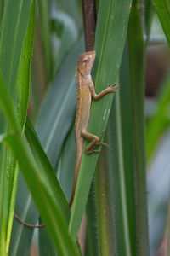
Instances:
[[[92,142],[89,143],[88,146],[86,147],[86,153],[87,154],[92,154],[94,152],[96,152],[96,153],[100,152],[100,150],[95,149],[98,145],[105,145],[106,147],[110,148],[109,145],[107,145],[106,143],[99,143],[99,140],[103,136],[103,133],[104,133],[104,131],[102,131],[101,135],[98,137],[98,136],[96,136],[92,133],[89,133],[88,131],[82,131],[81,132],[81,136],[83,138],[92,140]]]

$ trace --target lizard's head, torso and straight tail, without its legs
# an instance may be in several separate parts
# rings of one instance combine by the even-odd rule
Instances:
[[[77,184],[77,176],[80,167],[80,162],[82,159],[82,148],[83,148],[83,138],[81,136],[81,131],[86,131],[88,127],[88,119],[91,107],[91,92],[89,90],[88,83],[92,83],[91,79],[91,69],[93,67],[95,58],[95,51],[82,53],[79,55],[76,69],[77,78],[77,113],[75,119],[75,142],[77,148],[75,172],[73,178],[73,186],[71,191],[71,199],[69,201],[69,206],[71,207],[72,201],[75,195],[75,189]]]

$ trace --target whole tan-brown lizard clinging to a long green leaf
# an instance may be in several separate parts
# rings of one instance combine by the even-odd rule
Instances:
[[[114,92],[117,89],[117,85],[113,84],[112,86],[107,87],[105,90],[95,93],[94,83],[91,77],[91,70],[94,64],[95,51],[88,51],[79,55],[76,69],[77,77],[77,113],[75,120],[75,141],[77,148],[75,172],[73,178],[73,186],[71,191],[71,199],[69,201],[69,206],[71,207],[72,201],[75,195],[75,189],[77,185],[77,176],[79,171],[79,166],[82,158],[82,148],[84,139],[91,139],[92,142],[88,144],[86,148],[87,154],[92,154],[93,152],[99,152],[95,150],[96,146],[103,144],[108,146],[105,143],[99,143],[101,138],[91,134],[87,131],[88,119],[90,115],[91,100],[92,96],[94,100],[98,100],[105,94],[109,92]]]

